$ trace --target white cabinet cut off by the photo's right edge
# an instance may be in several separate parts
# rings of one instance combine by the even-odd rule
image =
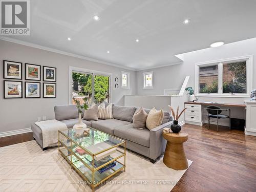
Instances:
[[[246,127],[245,135],[256,136],[256,101],[245,101]]]

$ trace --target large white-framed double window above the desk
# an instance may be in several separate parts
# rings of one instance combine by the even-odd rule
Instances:
[[[249,97],[252,68],[252,55],[196,63],[196,96]]]

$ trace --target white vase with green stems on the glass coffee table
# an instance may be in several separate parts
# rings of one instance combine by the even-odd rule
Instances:
[[[82,134],[82,133],[84,133],[84,131],[88,131],[88,130],[90,131],[90,129],[87,129],[86,123],[82,122],[82,110],[88,109],[88,104],[86,102],[87,98],[86,97],[83,98],[84,103],[82,105],[75,98],[73,98],[73,101],[74,101],[74,103],[76,103],[76,107],[77,107],[78,114],[79,114],[79,121],[78,121],[78,123],[74,124],[73,129],[75,130],[76,134]]]

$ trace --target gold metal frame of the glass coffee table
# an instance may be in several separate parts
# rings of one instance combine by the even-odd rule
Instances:
[[[98,130],[93,129],[93,128],[91,128],[91,127],[89,127],[89,128],[90,128],[91,130],[93,130],[93,131],[94,131],[94,130],[95,130],[95,131],[98,131]],[[68,130],[72,131],[73,129],[68,129]],[[67,131],[67,130],[65,130],[65,131]],[[125,141],[123,141],[123,140],[121,140],[121,139],[119,139],[119,138],[117,138],[117,137],[114,137],[114,136],[112,136],[112,135],[110,135],[110,134],[106,134],[106,133],[104,133],[104,132],[98,131],[98,132],[100,132],[100,133],[102,133],[102,134],[108,135],[109,137],[112,137],[112,138],[114,138],[114,139],[119,140],[120,143],[115,144],[115,145],[113,145],[113,146],[111,146],[111,147],[109,147],[109,148],[105,148],[104,150],[93,154],[93,153],[91,153],[90,151],[88,151],[86,147],[83,147],[83,146],[80,145],[78,142],[74,141],[74,139],[72,139],[71,137],[69,137],[68,135],[66,135],[65,133],[63,133],[63,132],[65,132],[65,131],[58,131],[58,154],[60,154],[64,159],[66,159],[66,161],[71,165],[71,168],[74,168],[74,169],[76,170],[76,172],[82,177],[83,180],[88,181],[88,184],[92,187],[92,191],[94,191],[94,188],[95,188],[96,186],[98,186],[99,184],[101,184],[103,181],[105,181],[105,180],[111,178],[112,176],[114,176],[115,174],[117,174],[118,172],[120,172],[120,170],[123,169],[124,172],[125,172],[125,167],[126,167],[126,165],[125,165],[126,142],[125,142]],[[68,146],[68,145],[67,145],[68,142],[65,143],[64,141],[60,140],[60,137],[61,137],[61,136],[64,136],[65,138],[67,138],[67,140],[69,140],[69,143],[70,143],[71,145]],[[82,138],[82,137],[85,138],[86,136],[81,135],[81,138]],[[81,157],[79,157],[79,155],[76,154],[75,151],[74,151],[74,149],[73,149],[73,146],[74,146],[74,145],[79,146],[80,148],[82,148],[82,149],[86,152],[87,155],[92,156],[92,163],[89,163],[88,161],[86,161],[85,158],[82,159]],[[95,157],[96,155],[99,155],[99,154],[101,154],[101,153],[103,153],[103,152],[106,152],[106,151],[111,150],[111,149],[114,148],[114,147],[118,147],[118,146],[122,146],[122,145],[123,145],[123,152],[120,151],[119,148],[116,149],[121,155],[119,155],[118,157],[113,158],[113,159],[111,159],[110,161],[108,161],[108,162],[106,162],[106,163],[104,163],[104,164],[98,166],[97,168],[95,168],[95,166],[94,166],[94,161],[95,161],[94,157]],[[64,147],[64,148],[61,148],[61,149],[60,149],[60,147]],[[73,158],[74,158],[74,157],[77,159],[76,161],[73,161]],[[122,158],[122,157],[124,157],[124,163],[121,163],[120,161],[118,161],[118,159],[120,159],[120,158]],[[75,166],[74,163],[77,162],[77,161],[80,161],[84,166],[86,166],[87,168],[90,169],[90,171],[92,172],[91,179],[90,179],[90,177],[88,178],[88,175],[82,173],[81,170],[79,170],[78,167]],[[113,172],[112,172],[111,174],[107,175],[106,177],[102,178],[100,181],[97,181],[97,182],[96,182],[96,180],[95,180],[95,172],[97,172],[98,169],[104,167],[105,165],[108,165],[109,163],[111,163],[111,162],[113,162],[113,161],[115,161],[116,163],[118,163],[119,168],[116,169],[115,166],[112,167],[111,170],[112,170]],[[90,165],[90,164],[91,164],[91,165]],[[109,172],[109,170],[107,170],[106,172]],[[103,173],[102,173],[102,174],[103,174]]]

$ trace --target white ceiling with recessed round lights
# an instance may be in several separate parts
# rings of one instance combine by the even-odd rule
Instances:
[[[134,70],[256,37],[254,0],[33,0],[30,7],[30,36],[9,37]]]

